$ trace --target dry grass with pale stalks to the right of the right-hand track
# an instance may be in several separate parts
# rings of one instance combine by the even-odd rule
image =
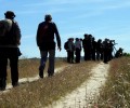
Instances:
[[[130,108],[130,57],[110,62],[109,77],[101,92],[98,108]]]

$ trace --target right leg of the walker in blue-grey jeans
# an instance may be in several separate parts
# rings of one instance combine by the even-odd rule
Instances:
[[[55,50],[49,51],[49,68],[48,68],[48,76],[54,75],[54,59],[55,59]]]

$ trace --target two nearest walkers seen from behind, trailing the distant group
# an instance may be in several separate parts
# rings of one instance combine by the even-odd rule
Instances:
[[[21,29],[17,22],[14,21],[16,16],[14,12],[6,11],[5,18],[0,19],[0,91],[6,87],[6,67],[10,60],[12,86],[17,86],[18,83],[18,56],[21,51]],[[56,42],[54,41],[56,37]],[[43,70],[49,55],[48,77],[54,75],[54,58],[55,48],[61,51],[61,37],[56,24],[52,22],[52,16],[47,14],[44,21],[38,25],[36,43],[39,48],[41,59],[39,66],[39,77],[43,78]]]

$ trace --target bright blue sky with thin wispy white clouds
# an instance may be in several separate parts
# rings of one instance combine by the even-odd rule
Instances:
[[[116,50],[122,48],[130,53],[130,0],[0,0],[0,19],[6,11],[16,14],[22,57],[40,57],[36,33],[46,14],[52,15],[61,36],[62,51],[56,50],[57,57],[66,56],[64,43],[68,38],[83,39],[84,33],[95,40],[115,40]]]

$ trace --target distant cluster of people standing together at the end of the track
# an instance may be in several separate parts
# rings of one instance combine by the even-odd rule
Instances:
[[[99,39],[95,41],[95,38],[92,35],[84,33],[83,39],[69,38],[64,43],[64,49],[67,52],[67,62],[68,63],[80,63],[81,59],[81,50],[83,50],[83,59],[84,60],[103,60],[105,64],[114,57],[122,55],[122,49],[119,48],[114,55],[113,52],[115,49],[115,40],[110,39]]]

